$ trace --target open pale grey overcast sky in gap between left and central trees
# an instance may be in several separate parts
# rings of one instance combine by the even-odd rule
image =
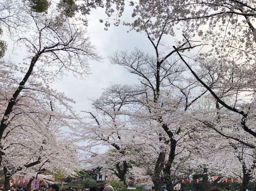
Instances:
[[[131,18],[131,9],[128,7],[122,20]],[[99,97],[102,88],[107,88],[110,84],[134,84],[138,83],[137,76],[127,72],[125,68],[118,65],[111,65],[108,56],[117,50],[132,51],[135,47],[145,51],[153,52],[152,45],[145,34],[130,31],[129,27],[120,24],[116,27],[111,23],[108,31],[104,30],[104,24],[99,22],[100,18],[106,18],[103,9],[93,10],[89,15],[88,34],[91,42],[97,46],[100,55],[104,57],[102,62],[89,61],[91,65],[91,75],[86,79],[79,79],[72,74],[63,77],[59,82],[54,83],[54,88],[74,99],[77,103],[74,109],[80,113],[81,110],[89,110],[91,101],[88,98]]]

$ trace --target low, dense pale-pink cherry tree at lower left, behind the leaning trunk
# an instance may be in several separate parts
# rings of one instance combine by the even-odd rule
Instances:
[[[6,90],[10,90],[19,78],[14,76],[15,73],[4,70],[6,66],[2,68],[5,75],[0,87],[2,103],[5,103],[6,97],[11,96],[11,91]],[[30,178],[54,169],[69,173],[76,167],[76,153],[70,149],[75,147],[61,132],[61,128],[73,125],[72,120],[78,120],[69,106],[70,101],[40,81],[27,82],[2,138],[6,186],[14,175]],[[66,107],[66,113],[69,111],[70,114],[65,114],[59,106]]]

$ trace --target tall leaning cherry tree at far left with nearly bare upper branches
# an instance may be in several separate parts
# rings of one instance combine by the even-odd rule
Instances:
[[[16,9],[14,10],[16,11]],[[3,9],[1,14],[8,15],[10,11],[13,9],[7,11]],[[11,18],[16,14],[19,15],[19,12],[13,13]],[[26,16],[26,22],[22,23],[19,33],[16,33],[14,38],[16,38],[15,44],[26,50],[23,57],[24,62],[18,66],[17,63],[2,60],[1,162],[2,156],[5,154],[3,140],[11,129],[24,126],[22,122],[14,123],[24,115],[31,120],[44,121],[44,118],[54,118],[52,108],[61,104],[68,112],[71,112],[70,115],[63,116],[63,118],[75,118],[74,112],[69,106],[69,102],[72,100],[54,90],[49,90],[48,82],[56,79],[65,71],[71,71],[74,75],[83,77],[88,72],[88,59],[100,59],[95,47],[91,45],[86,36],[86,31],[75,25],[71,19],[62,17],[61,13],[52,10],[49,10],[47,14],[36,13],[32,12],[29,6],[23,4],[22,14]],[[1,22],[6,24],[6,19],[10,19],[9,22],[15,22],[11,18],[6,16]],[[17,19],[19,20],[18,16]],[[42,86],[41,84],[47,85]],[[54,100],[56,103],[53,102]],[[61,119],[61,117],[55,117],[55,119]],[[40,128],[37,120],[32,120],[32,123],[30,124],[31,128]],[[59,123],[62,123],[61,120]],[[44,125],[47,126],[47,124]]]

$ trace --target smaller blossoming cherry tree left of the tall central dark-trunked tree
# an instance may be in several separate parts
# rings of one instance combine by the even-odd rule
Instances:
[[[131,95],[116,94],[117,90],[130,92]],[[126,173],[132,167],[131,149],[138,141],[134,136],[136,127],[132,127],[122,113],[128,112],[128,105],[132,98],[129,86],[113,85],[93,100],[93,111],[87,112],[92,120],[88,121],[76,131],[79,141],[87,143],[85,149],[89,157],[87,169],[100,168],[105,173],[114,174],[126,185]],[[135,92],[135,94],[140,94]],[[108,146],[109,150],[100,154],[96,151],[98,145]]]

